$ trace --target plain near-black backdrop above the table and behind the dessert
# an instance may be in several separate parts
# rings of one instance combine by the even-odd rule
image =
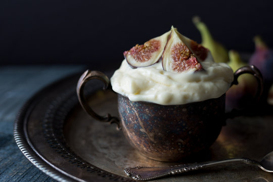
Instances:
[[[198,15],[228,49],[252,53],[260,34],[273,47],[272,1],[1,0],[0,64],[117,68],[122,53],[173,25],[198,42]]]

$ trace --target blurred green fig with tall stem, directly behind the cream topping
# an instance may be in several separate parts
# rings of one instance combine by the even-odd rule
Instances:
[[[223,45],[214,40],[208,27],[203,23],[199,17],[193,18],[193,23],[201,33],[202,45],[209,49],[214,61],[216,63],[227,63],[229,62],[228,50],[226,50]]]

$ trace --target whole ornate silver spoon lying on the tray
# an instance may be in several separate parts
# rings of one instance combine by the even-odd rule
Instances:
[[[244,162],[260,167],[266,172],[273,172],[273,151],[265,155],[260,162],[247,158],[224,159],[193,164],[181,164],[169,167],[128,167],[124,172],[135,180],[151,180],[172,174],[198,170],[205,167],[212,167],[222,164]]]

